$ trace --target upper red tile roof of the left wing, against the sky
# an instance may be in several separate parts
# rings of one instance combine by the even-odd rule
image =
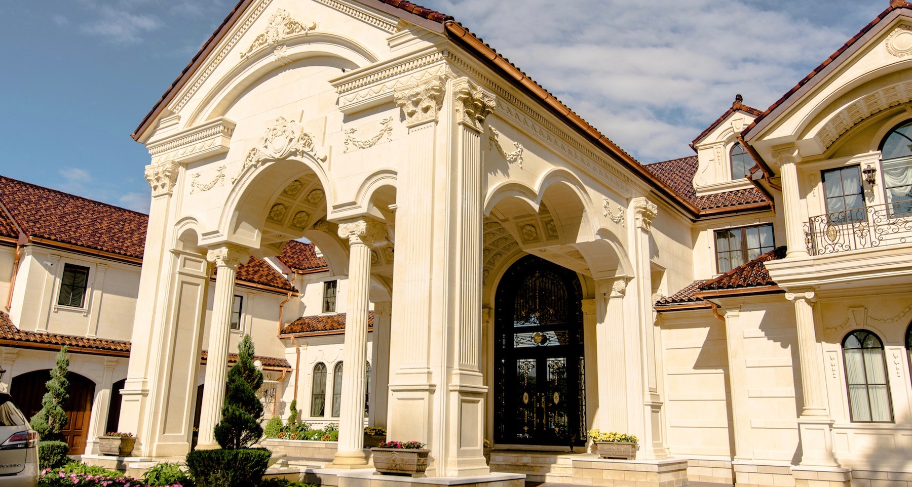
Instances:
[[[0,203],[26,236],[142,258],[149,217],[140,212],[3,176]]]

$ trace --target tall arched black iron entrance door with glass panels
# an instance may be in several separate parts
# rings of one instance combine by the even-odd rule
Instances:
[[[582,297],[575,272],[534,255],[503,275],[494,311],[497,442],[586,443]]]

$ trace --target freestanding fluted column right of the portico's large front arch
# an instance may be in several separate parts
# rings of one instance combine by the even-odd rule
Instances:
[[[333,467],[358,468],[368,464],[364,455],[364,368],[368,360],[370,247],[386,235],[386,225],[369,219],[353,220],[340,223],[338,234],[348,239],[349,254],[342,406]]]

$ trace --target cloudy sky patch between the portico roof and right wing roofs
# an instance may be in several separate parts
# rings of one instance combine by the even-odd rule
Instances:
[[[763,10],[735,0],[427,6],[456,16],[644,162],[691,154],[690,140],[737,93],[766,109],[847,40],[846,28],[861,27],[812,25],[782,6]]]

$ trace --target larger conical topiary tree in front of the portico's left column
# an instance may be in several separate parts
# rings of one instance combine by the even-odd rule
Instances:
[[[244,335],[237,352],[237,363],[228,371],[222,420],[212,431],[225,450],[249,448],[263,436],[263,403],[256,397],[256,390],[263,386],[263,373],[254,367],[254,341],[250,335]]]

